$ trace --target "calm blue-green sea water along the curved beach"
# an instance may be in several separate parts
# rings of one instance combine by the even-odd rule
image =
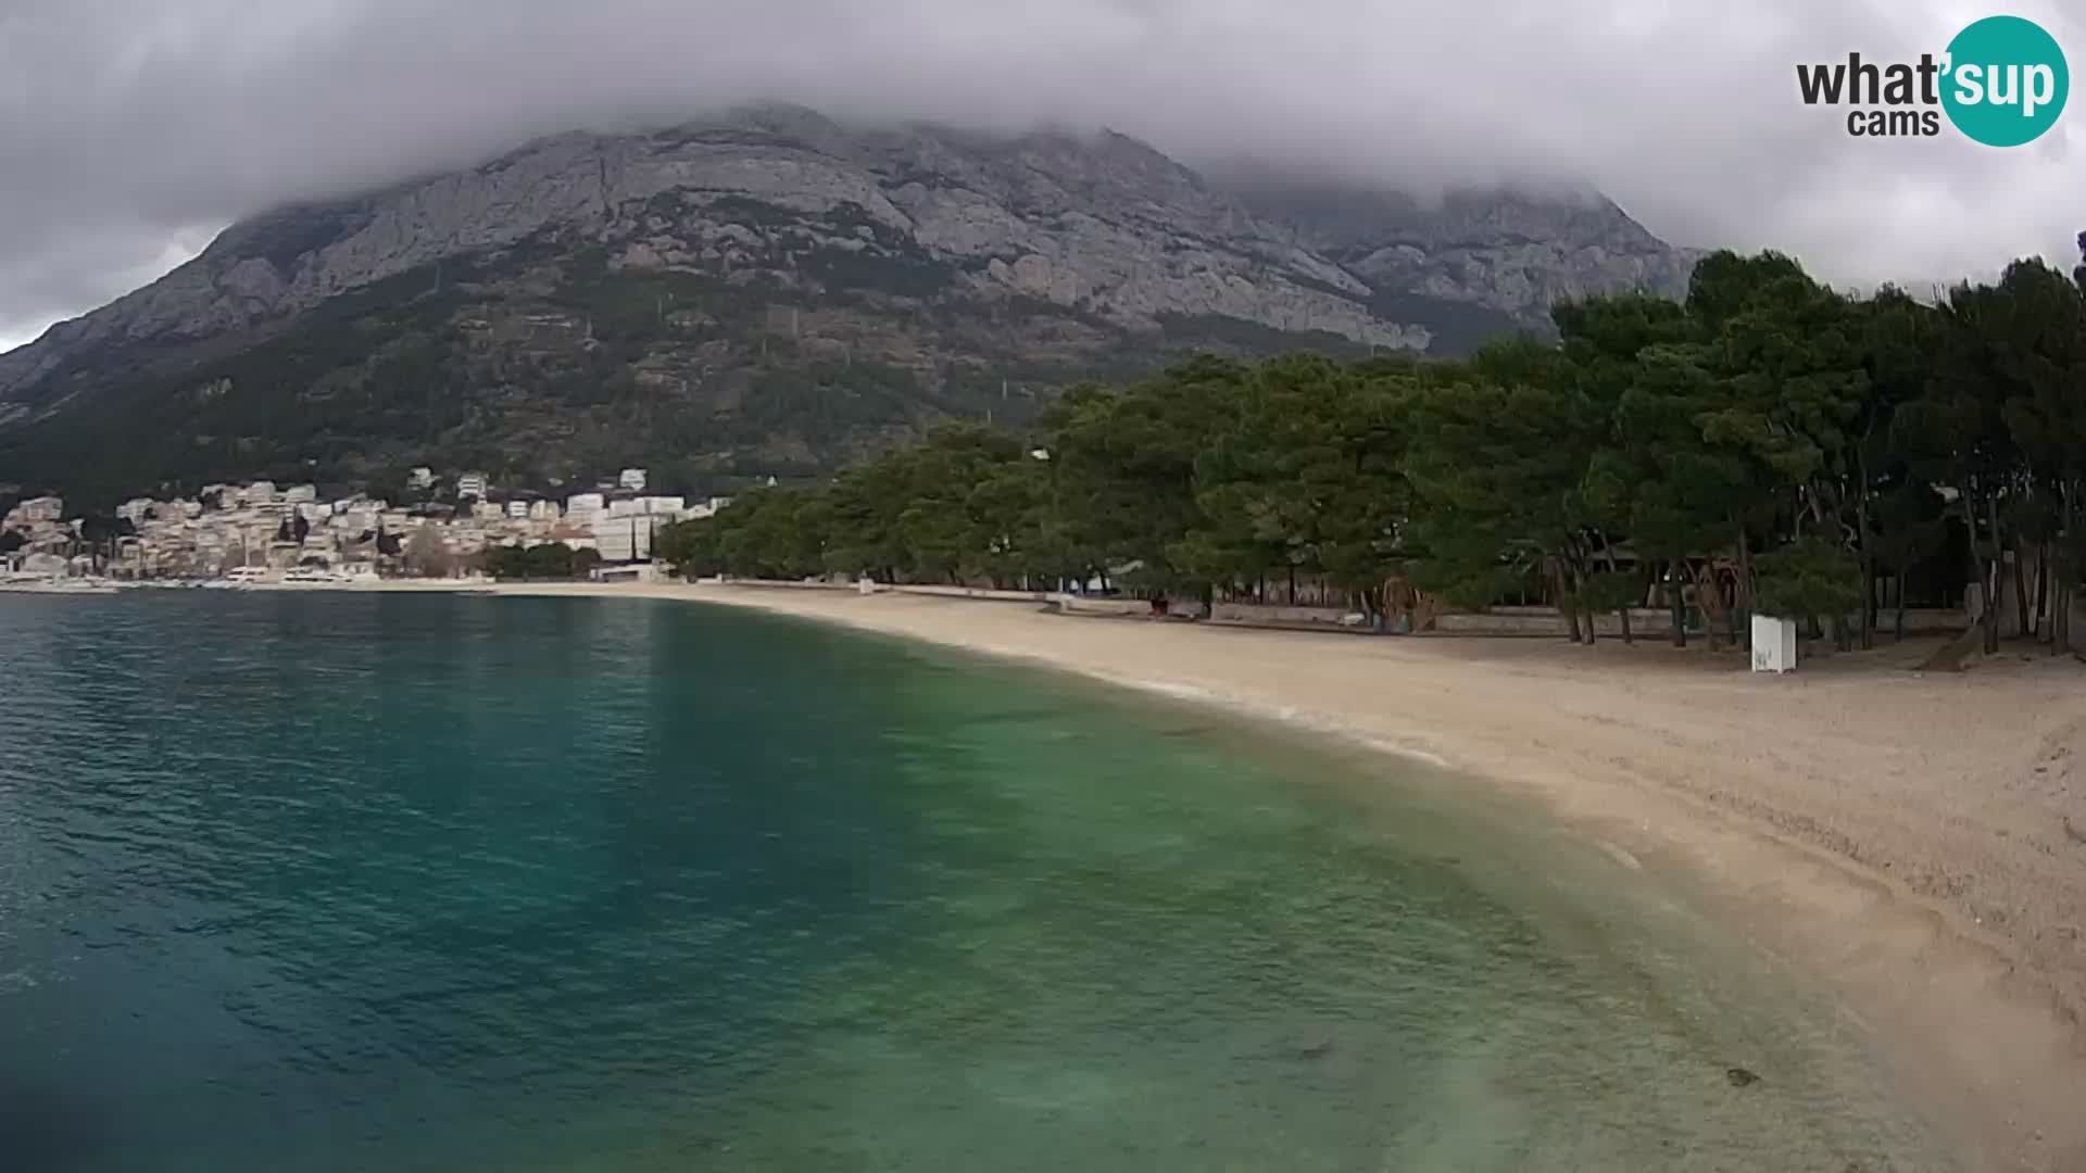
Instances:
[[[0,599],[0,701],[10,1173],[1940,1167],[1654,879],[1204,710],[234,593]]]

